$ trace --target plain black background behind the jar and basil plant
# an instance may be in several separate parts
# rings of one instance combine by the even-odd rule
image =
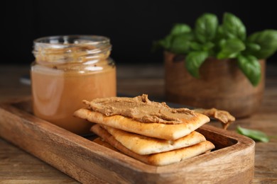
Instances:
[[[1,64],[31,64],[33,40],[49,35],[105,35],[116,63],[162,63],[162,51],[151,52],[153,40],[168,34],[174,23],[193,27],[202,13],[234,13],[248,35],[277,29],[274,1],[7,1],[1,28]],[[277,54],[268,59],[277,63]]]

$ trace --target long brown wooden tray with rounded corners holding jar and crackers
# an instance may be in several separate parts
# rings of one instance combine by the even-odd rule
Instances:
[[[30,99],[0,104],[0,136],[81,183],[249,183],[255,143],[210,125],[210,153],[168,166],[150,166],[31,113]]]

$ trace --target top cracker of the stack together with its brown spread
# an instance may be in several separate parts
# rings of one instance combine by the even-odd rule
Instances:
[[[158,139],[179,139],[210,122],[206,115],[152,102],[147,95],[98,98],[84,103],[87,108],[75,111],[75,117]]]

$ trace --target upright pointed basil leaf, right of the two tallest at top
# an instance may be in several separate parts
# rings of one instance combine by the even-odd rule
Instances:
[[[241,20],[232,13],[224,13],[222,30],[227,38],[239,38],[245,40],[246,28]]]

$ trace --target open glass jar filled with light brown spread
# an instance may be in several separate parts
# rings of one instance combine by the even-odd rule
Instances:
[[[31,65],[33,113],[76,134],[92,123],[73,117],[82,100],[116,96],[116,67],[109,38],[62,35],[34,40]]]

